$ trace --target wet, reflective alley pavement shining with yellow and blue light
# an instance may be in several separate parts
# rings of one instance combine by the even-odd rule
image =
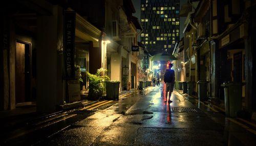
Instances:
[[[52,125],[48,130],[53,132],[30,144],[256,145],[253,127],[176,91],[168,104],[163,89],[163,84],[148,87],[91,110],[76,110],[73,121],[61,121],[62,127]]]

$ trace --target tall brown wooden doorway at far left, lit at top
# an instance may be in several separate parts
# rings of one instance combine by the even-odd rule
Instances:
[[[31,44],[16,41],[15,103],[31,101]]]

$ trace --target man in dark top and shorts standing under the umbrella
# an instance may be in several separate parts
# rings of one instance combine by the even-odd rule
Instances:
[[[165,102],[167,101],[167,95],[169,92],[169,98],[168,102],[173,102],[170,100],[170,96],[172,95],[172,92],[174,90],[174,81],[175,81],[175,72],[171,68],[173,67],[173,64],[168,64],[166,71],[164,72],[164,82],[165,82]]]

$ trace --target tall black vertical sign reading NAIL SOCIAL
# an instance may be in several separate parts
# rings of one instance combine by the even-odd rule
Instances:
[[[76,13],[64,12],[63,60],[64,79],[75,79],[75,27]]]

